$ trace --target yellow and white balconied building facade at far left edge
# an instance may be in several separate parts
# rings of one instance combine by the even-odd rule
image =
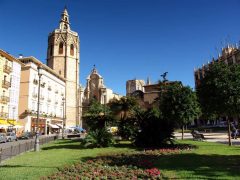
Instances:
[[[19,60],[0,50],[0,129],[17,125],[21,66]]]

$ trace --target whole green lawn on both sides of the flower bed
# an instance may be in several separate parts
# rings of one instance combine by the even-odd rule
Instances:
[[[163,155],[156,166],[164,177],[179,179],[240,179],[240,147],[223,144],[180,141],[199,148],[180,154]],[[58,167],[111,152],[137,151],[127,144],[112,148],[81,149],[79,142],[59,140],[43,146],[40,152],[28,152],[7,160],[0,167],[0,179],[39,179]]]

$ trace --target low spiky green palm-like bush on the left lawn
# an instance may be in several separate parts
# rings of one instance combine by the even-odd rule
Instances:
[[[90,131],[86,138],[83,139],[82,145],[84,147],[109,147],[114,144],[113,136],[107,132],[105,128]]]

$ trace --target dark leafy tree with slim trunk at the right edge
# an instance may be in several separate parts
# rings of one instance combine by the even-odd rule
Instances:
[[[214,63],[205,69],[197,94],[204,114],[226,116],[228,140],[231,142],[229,117],[238,116],[240,110],[240,65]]]

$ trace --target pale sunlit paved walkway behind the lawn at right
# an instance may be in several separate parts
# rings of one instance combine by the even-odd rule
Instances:
[[[202,133],[202,134],[205,137],[204,141],[228,144],[227,133]],[[181,133],[174,133],[174,136],[177,139],[181,139],[182,134]],[[193,137],[192,137],[191,133],[184,133],[184,139],[193,139]],[[232,144],[240,146],[240,139],[232,139]]]

